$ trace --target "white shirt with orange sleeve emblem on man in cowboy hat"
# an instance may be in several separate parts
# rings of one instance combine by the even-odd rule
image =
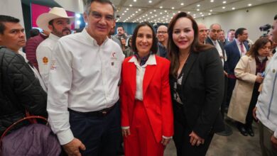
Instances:
[[[36,60],[38,61],[38,69],[40,76],[46,87],[48,87],[48,74],[50,69],[50,60],[52,52],[60,37],[50,33],[49,37],[43,40],[36,48]]]

